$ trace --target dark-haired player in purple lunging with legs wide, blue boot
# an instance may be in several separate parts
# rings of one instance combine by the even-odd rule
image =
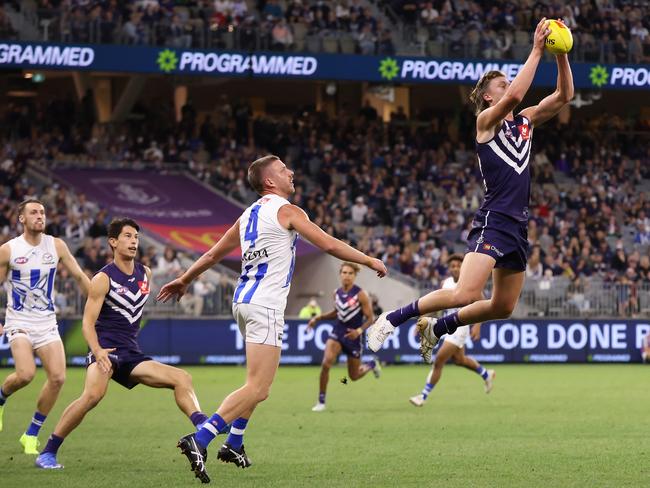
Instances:
[[[131,219],[113,219],[108,244],[113,262],[93,277],[84,309],[82,330],[90,348],[83,393],[63,412],[36,467],[60,469],[57,452],[65,438],[106,394],[111,378],[131,389],[142,383],[174,390],[176,404],[195,426],[207,420],[194,394],[191,376],[179,368],[153,361],[140,350],[137,335],[151,289],[151,270],[136,262],[140,227]]]

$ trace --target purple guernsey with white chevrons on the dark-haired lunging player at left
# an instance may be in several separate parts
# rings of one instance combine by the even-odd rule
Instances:
[[[123,273],[115,263],[100,271],[108,276],[109,290],[97,317],[97,337],[103,348],[139,350],[136,338],[140,319],[149,298],[149,280],[145,267],[135,263],[132,275]]]

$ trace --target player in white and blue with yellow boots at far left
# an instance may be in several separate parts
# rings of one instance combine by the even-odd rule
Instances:
[[[36,373],[38,356],[47,379],[36,403],[32,422],[20,437],[25,454],[38,454],[38,433],[54,407],[65,381],[65,353],[54,310],[54,279],[61,263],[88,293],[90,280],[65,242],[45,234],[45,207],[36,199],[18,206],[23,233],[0,246],[0,283],[7,279],[7,314],[4,332],[16,370],[0,387],[0,431],[5,403],[27,386]]]

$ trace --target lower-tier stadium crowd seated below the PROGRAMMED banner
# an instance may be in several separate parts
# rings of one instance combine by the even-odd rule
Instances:
[[[318,225],[421,287],[434,288],[446,274],[446,257],[464,249],[483,195],[469,110],[412,119],[398,110],[386,124],[369,104],[336,118],[309,110],[272,118],[253,117],[245,102],[223,100],[201,120],[189,102],[179,123],[155,112],[164,111],[156,106],[144,114],[146,124],[96,124],[88,132],[83,128],[93,127],[87,123],[92,113],[83,103],[73,106],[55,101],[8,107],[4,127],[12,130],[0,176],[10,185],[4,187],[0,241],[11,232],[15,204],[34,194],[24,178],[27,160],[111,167],[176,163],[246,203],[255,198],[246,167],[270,152],[296,169],[295,202]],[[639,191],[650,179],[647,136],[647,127],[611,116],[549,123],[536,131],[530,278],[650,282],[650,199]],[[106,256],[97,238],[105,235],[106,213],[57,185],[41,198],[50,212],[48,232],[79,243],[77,256],[89,272],[101,267]],[[144,259],[154,269],[164,261],[149,251]]]

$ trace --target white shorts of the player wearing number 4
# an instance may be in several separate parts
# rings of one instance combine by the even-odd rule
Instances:
[[[282,346],[284,314],[252,303],[233,303],[232,314],[246,342]]]

